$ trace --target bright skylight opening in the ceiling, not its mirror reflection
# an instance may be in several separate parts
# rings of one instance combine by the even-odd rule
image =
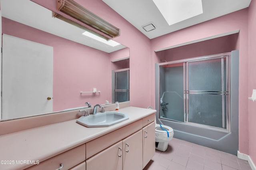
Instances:
[[[202,0],[153,0],[170,25],[203,13]]]

